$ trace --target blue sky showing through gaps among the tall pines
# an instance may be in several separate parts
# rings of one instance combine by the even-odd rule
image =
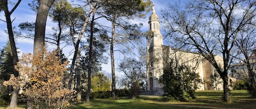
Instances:
[[[25,0],[21,1],[19,7],[17,7],[17,9],[11,15],[12,19],[15,18],[15,20],[13,22],[13,27],[17,27],[17,25],[19,25],[21,22],[35,22],[36,14],[28,6],[29,2],[31,2],[31,1],[25,1]],[[152,2],[155,4],[155,10],[156,10],[158,16],[161,17],[160,10],[165,9],[169,3],[172,4],[174,2],[178,2],[178,0],[167,0],[167,1],[166,0],[152,0]],[[181,3],[184,3],[184,2],[185,2],[185,0],[181,1]],[[11,5],[9,6],[9,8],[12,8],[12,7],[13,6],[11,6]],[[144,27],[142,27],[142,30],[144,30],[144,31],[148,30],[148,16],[150,16],[150,14],[151,14],[151,12],[147,15],[147,17],[145,19],[134,21],[134,23],[143,23]],[[3,11],[0,13],[0,18],[1,18],[1,20],[5,20]],[[53,23],[50,18],[47,18],[46,34],[50,33],[52,27],[56,27],[56,24]],[[3,46],[5,46],[5,43],[7,41],[9,41],[8,34],[5,33],[5,30],[7,30],[6,23],[3,21],[0,21],[0,48],[1,49],[3,48]],[[33,53],[33,40],[16,39],[16,46],[17,46],[17,48],[19,48],[20,53]],[[55,48],[55,46],[51,46],[51,45],[48,45],[48,47]],[[64,47],[64,45],[62,45],[62,47]],[[73,49],[73,47],[64,47],[63,48],[64,54],[66,54],[66,56],[73,55],[73,54],[70,54],[70,49]],[[108,56],[109,53],[106,53],[106,55]],[[109,57],[108,64],[104,64],[102,67],[105,72],[110,73],[111,72],[110,56],[108,56],[108,57]],[[120,53],[115,53],[115,57],[116,57],[115,63],[118,63],[118,61],[122,60],[122,56],[120,55]],[[116,66],[116,68],[117,68],[117,66]]]

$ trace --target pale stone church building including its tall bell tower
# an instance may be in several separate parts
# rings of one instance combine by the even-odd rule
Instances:
[[[152,91],[154,94],[163,93],[163,85],[159,83],[158,79],[164,73],[164,68],[173,59],[178,64],[183,63],[192,66],[194,71],[200,75],[203,84],[198,85],[198,90],[221,90],[223,88],[221,84],[211,84],[210,76],[215,73],[214,68],[203,56],[163,45],[163,36],[159,29],[159,17],[154,10],[154,6],[152,9],[148,21],[151,35],[147,36],[147,91]],[[222,58],[218,55],[216,58],[221,63]]]

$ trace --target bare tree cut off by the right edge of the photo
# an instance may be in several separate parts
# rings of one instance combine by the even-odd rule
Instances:
[[[255,69],[256,65],[255,61],[251,60],[253,57],[250,57],[255,52],[255,34],[255,25],[246,26],[246,28],[241,29],[239,32],[239,37],[237,37],[237,41],[235,43],[238,50],[237,52],[239,53],[235,58],[240,62],[243,62],[246,66],[244,71],[249,77],[249,86],[252,97],[256,97],[255,72],[253,72],[253,68]]]

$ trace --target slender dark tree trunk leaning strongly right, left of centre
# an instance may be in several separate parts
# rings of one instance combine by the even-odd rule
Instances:
[[[71,68],[70,68],[70,76],[69,76],[69,82],[68,82],[68,87],[70,88],[71,85],[72,85],[72,80],[73,80],[73,70],[74,70],[74,67],[75,67],[75,60],[76,60],[76,57],[78,55],[78,49],[79,49],[79,44],[80,44],[80,41],[81,41],[81,38],[82,38],[82,35],[84,34],[84,31],[85,31],[85,28],[87,27],[87,24],[88,24],[88,21],[89,21],[89,18],[90,18],[90,15],[91,15],[91,12],[92,12],[92,8],[90,9],[90,11],[88,12],[88,15],[86,16],[86,19],[85,19],[85,23],[82,27],[82,30],[81,32],[79,33],[79,36],[78,36],[78,41],[76,41],[76,44],[75,44],[75,53],[73,55],[73,60],[72,60],[72,63],[71,63]]]

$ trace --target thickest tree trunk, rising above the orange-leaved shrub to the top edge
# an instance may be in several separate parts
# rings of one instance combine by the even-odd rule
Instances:
[[[35,20],[34,55],[44,52],[45,27],[48,12],[55,0],[40,0]]]

